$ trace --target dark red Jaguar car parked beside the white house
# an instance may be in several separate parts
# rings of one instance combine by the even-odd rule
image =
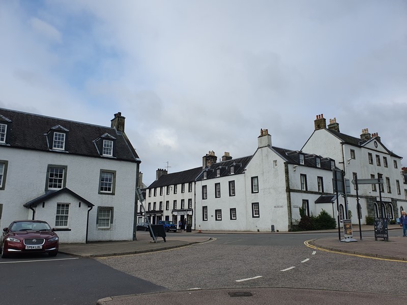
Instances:
[[[59,237],[48,223],[41,220],[16,220],[3,229],[0,240],[2,258],[14,253],[58,254]]]

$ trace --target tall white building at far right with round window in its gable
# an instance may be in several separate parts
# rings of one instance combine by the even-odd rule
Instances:
[[[348,136],[339,131],[336,118],[330,119],[327,127],[322,114],[316,116],[314,126],[314,132],[302,149],[334,159],[336,166],[344,171],[345,178],[351,181],[356,176],[358,179],[378,178],[378,175],[383,177],[384,184],[381,186],[359,185],[361,223],[365,223],[366,216],[383,215],[396,220],[400,210],[407,208],[407,180],[401,173],[402,158],[387,149],[379,135],[370,134],[368,129],[363,129],[359,138]],[[346,205],[342,200],[341,219],[346,217]],[[356,186],[352,184],[347,201],[353,223],[358,223]]]

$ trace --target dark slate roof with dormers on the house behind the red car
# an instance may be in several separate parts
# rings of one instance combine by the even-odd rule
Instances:
[[[140,162],[136,150],[131,145],[126,134],[118,132],[114,128],[3,108],[0,108],[0,121],[11,121],[11,123],[9,123],[10,128],[7,130],[10,136],[7,143],[9,145],[1,145],[1,147],[60,153],[51,151],[48,148],[47,138],[44,134],[48,133],[51,129],[69,130],[67,145],[65,147],[65,150],[68,151],[69,154],[106,158],[99,155],[94,140],[108,134],[116,139],[114,150],[115,159]]]

